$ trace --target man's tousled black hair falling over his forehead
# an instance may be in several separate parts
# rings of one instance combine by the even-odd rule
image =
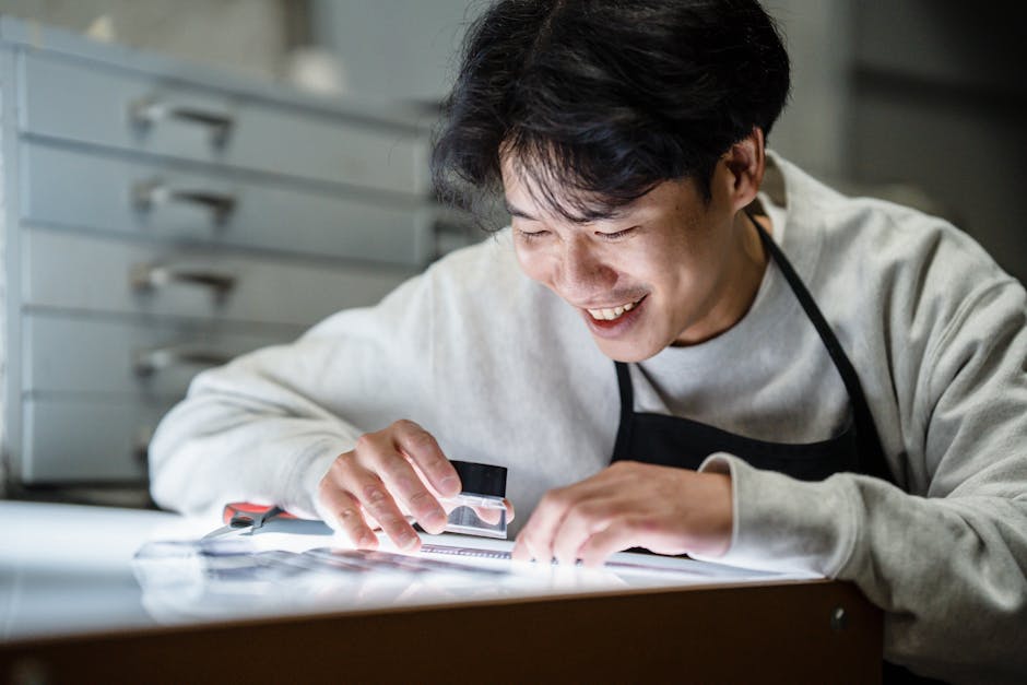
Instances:
[[[432,155],[438,196],[479,210],[500,155],[571,220],[610,216],[694,178],[789,94],[789,60],[756,0],[501,0],[469,28]]]

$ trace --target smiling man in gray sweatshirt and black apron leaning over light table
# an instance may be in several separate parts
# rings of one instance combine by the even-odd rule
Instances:
[[[511,228],[198,377],[154,497],[412,550],[405,515],[438,531],[459,491],[448,459],[498,463],[519,558],[812,570],[887,612],[889,660],[1022,677],[1024,288],[944,222],[768,154],[788,87],[752,0],[494,5],[434,164],[501,191]]]

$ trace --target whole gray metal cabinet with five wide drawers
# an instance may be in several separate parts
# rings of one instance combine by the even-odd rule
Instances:
[[[143,485],[198,370],[373,304],[453,245],[411,118],[7,19],[0,146],[16,487]]]

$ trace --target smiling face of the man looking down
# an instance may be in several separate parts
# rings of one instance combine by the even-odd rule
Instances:
[[[639,362],[735,322],[743,232],[716,189],[707,204],[694,181],[664,181],[576,223],[535,202],[508,160],[503,184],[521,269],[578,310],[606,356]]]

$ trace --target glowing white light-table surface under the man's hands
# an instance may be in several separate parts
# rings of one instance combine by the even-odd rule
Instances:
[[[268,615],[799,578],[630,554],[615,555],[614,565],[604,570],[517,564],[461,556],[469,547],[501,556],[509,541],[451,534],[423,535],[426,546],[450,552],[422,554],[421,559],[463,568],[404,570],[385,558],[380,567],[370,559],[368,572],[352,570],[352,564],[367,559],[347,556],[354,553],[335,538],[268,533],[197,547],[216,521],[160,511],[0,501],[0,641]],[[234,545],[243,545],[243,552]],[[382,550],[389,552],[388,545]]]

